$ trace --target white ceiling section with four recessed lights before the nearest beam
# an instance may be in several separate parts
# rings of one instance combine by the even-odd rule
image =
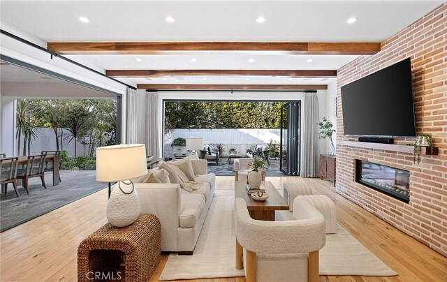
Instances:
[[[1,1],[45,41],[381,42],[443,1]],[[164,19],[173,16],[175,22]],[[265,22],[258,24],[256,17]],[[89,18],[83,24],[78,17]],[[355,24],[346,24],[358,17]]]

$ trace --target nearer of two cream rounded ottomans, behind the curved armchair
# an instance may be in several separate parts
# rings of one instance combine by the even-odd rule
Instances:
[[[335,204],[326,195],[298,195],[293,200],[293,206],[298,207],[302,202],[309,202],[324,216],[326,234],[337,233],[337,210]]]

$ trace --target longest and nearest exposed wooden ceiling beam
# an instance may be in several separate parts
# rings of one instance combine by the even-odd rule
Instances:
[[[59,54],[339,54],[365,55],[380,51],[380,43],[293,42],[50,42],[48,50]]]

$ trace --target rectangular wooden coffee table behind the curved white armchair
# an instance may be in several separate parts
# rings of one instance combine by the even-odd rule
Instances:
[[[235,198],[242,198],[247,202],[247,209],[251,218],[259,221],[274,221],[274,211],[284,210],[288,211],[286,200],[282,198],[281,194],[274,188],[272,182],[263,181],[265,192],[269,197],[263,202],[258,202],[247,194],[246,181],[235,181]]]

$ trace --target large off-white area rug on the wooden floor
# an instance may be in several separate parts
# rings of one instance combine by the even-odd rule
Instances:
[[[218,190],[193,255],[169,255],[160,281],[245,276],[235,268],[234,191]],[[292,213],[277,211],[277,220],[290,220]],[[320,251],[321,275],[397,275],[368,251],[344,228],[326,237]]]

